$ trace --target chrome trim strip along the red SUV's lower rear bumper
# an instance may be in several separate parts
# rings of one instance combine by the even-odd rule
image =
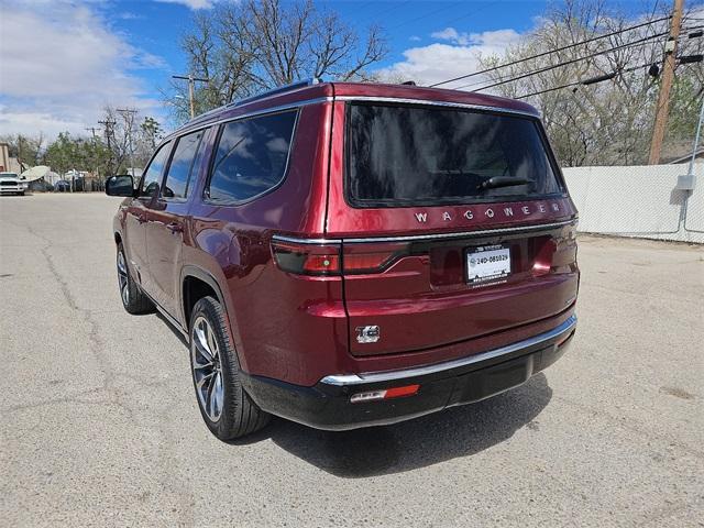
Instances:
[[[501,358],[502,355],[517,352],[521,349],[535,346],[556,339],[564,333],[571,332],[576,327],[576,316],[571,316],[562,324],[553,328],[552,330],[534,336],[532,338],[516,343],[502,346],[499,349],[490,350],[480,354],[470,355],[469,358],[462,358],[460,360],[447,361],[444,363],[437,363],[435,365],[419,366],[417,369],[406,369],[403,371],[388,371],[388,372],[371,372],[365,374],[336,374],[326,376],[320,380],[320,383],[327,385],[349,386],[360,385],[363,383],[376,383],[376,382],[393,382],[404,380],[406,377],[424,376],[427,374],[435,374],[437,372],[449,371],[460,366],[472,365],[482,361]]]

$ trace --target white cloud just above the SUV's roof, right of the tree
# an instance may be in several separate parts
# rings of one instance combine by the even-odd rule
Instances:
[[[519,33],[509,29],[461,33],[454,28],[446,28],[432,33],[431,36],[449,43],[436,42],[428,46],[406,50],[404,61],[383,68],[378,73],[382,76],[400,77],[415,80],[420,85],[431,85],[477,70],[481,56],[501,54],[521,38]],[[471,80],[479,79],[476,77]],[[448,85],[448,87],[458,85]]]

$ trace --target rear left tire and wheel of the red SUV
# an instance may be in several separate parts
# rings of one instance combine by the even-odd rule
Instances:
[[[212,297],[198,300],[188,328],[196,399],[210,432],[227,441],[266,426],[271,416],[242,388],[240,362],[220,302]]]

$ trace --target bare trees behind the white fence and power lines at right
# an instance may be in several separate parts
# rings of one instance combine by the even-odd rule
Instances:
[[[517,62],[488,73],[490,84],[538,72],[496,86],[494,90],[507,97],[524,97],[540,109],[558,156],[569,166],[638,164],[645,163],[648,156],[659,84],[648,70],[650,65],[662,63],[668,21],[527,59],[667,14],[666,6],[654,3],[646,16],[634,21],[605,6],[602,0],[568,0],[554,6],[524,42],[502,57],[483,58],[486,67]],[[681,41],[680,54],[690,53],[694,45],[689,40]],[[551,68],[562,63],[571,64]],[[603,82],[580,84],[606,74],[615,76]],[[691,102],[697,92],[701,97],[704,80],[701,66],[680,66],[676,74],[673,94],[683,100],[674,100],[671,109],[674,117],[669,134],[672,154],[676,154],[682,138],[691,138],[694,127],[691,116],[696,112],[688,113],[684,100]],[[551,90],[564,85],[572,86]]]

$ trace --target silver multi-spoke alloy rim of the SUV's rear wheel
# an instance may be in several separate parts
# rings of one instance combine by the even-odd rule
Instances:
[[[224,398],[218,340],[208,320],[201,316],[195,320],[193,332],[190,361],[196,393],[208,418],[217,422],[222,415]]]

